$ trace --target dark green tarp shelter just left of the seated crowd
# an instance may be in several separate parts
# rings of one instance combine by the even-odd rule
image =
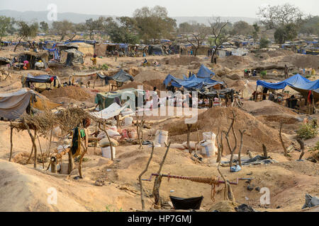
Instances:
[[[138,102],[136,101],[138,97],[143,98],[145,95],[144,90],[137,90],[134,88],[128,88],[124,90],[117,90],[115,92],[108,92],[108,93],[98,93],[95,97],[96,104],[99,105],[99,109],[106,109],[106,107],[109,107],[113,104],[114,99],[116,97],[119,97],[120,100],[125,100],[125,102],[128,100],[130,109],[135,109]],[[144,99],[140,99],[144,100]]]

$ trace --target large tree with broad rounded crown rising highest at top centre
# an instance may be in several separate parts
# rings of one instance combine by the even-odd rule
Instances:
[[[133,18],[137,23],[138,34],[145,42],[169,37],[177,27],[176,20],[169,18],[167,9],[161,6],[136,9]]]

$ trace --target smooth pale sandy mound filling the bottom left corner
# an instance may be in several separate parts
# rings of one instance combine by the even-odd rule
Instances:
[[[68,196],[70,193],[67,189],[61,191],[59,179],[46,178],[44,174],[16,163],[0,160],[0,184],[1,212],[87,211]],[[49,195],[47,192],[51,187],[55,187],[58,191],[56,205],[47,203]]]

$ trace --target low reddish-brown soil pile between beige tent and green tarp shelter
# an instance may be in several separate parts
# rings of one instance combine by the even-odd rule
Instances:
[[[77,86],[65,86],[55,90],[45,90],[42,94],[50,100],[57,97],[69,97],[73,100],[84,101],[91,97],[89,92],[84,90],[84,88],[79,88]]]

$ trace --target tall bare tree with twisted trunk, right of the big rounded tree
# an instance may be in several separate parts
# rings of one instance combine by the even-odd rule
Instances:
[[[213,35],[214,38],[214,51],[211,56],[211,63],[214,61],[215,54],[217,53],[217,49],[220,47],[223,42],[227,41],[227,37],[223,35],[223,30],[226,25],[228,25],[228,21],[222,22],[220,20],[220,17],[215,18],[215,20],[208,21],[211,25],[211,35]]]

